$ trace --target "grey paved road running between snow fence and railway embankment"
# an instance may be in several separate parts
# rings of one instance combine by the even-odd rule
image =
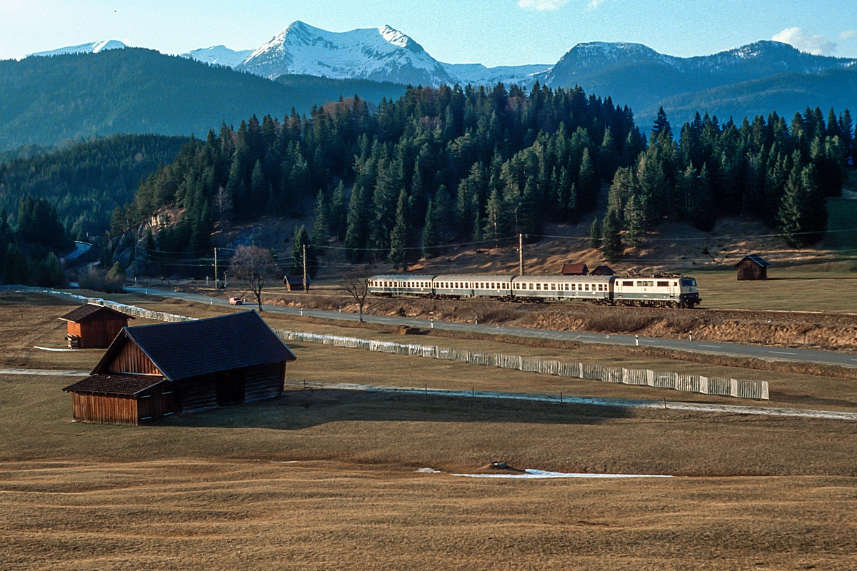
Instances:
[[[169,291],[167,289],[155,288],[126,288],[139,294],[161,295],[175,297],[182,300],[197,301],[199,303],[213,303],[214,305],[226,306],[229,302],[222,298],[211,298],[201,294],[185,294],[182,292]],[[268,306],[262,305],[267,312],[286,313],[289,315],[304,315],[322,319],[342,319],[346,321],[357,321],[356,313],[326,312],[316,309],[299,309],[297,307]],[[409,325],[411,327],[428,328],[432,323],[426,319],[402,318],[387,315],[364,315],[363,319],[369,323],[387,325]],[[542,329],[529,329],[526,327],[505,327],[502,325],[476,325],[457,323],[451,321],[434,321],[434,329],[446,331],[468,331],[475,333],[487,333],[490,335],[507,335],[518,337],[535,337],[538,339],[556,339],[559,341],[577,341],[582,343],[602,343],[607,345],[625,345],[632,347],[637,343],[634,336],[603,335],[601,333],[581,333],[578,331],[551,331]],[[689,341],[686,339],[663,339],[657,337],[640,337],[640,347],[668,349],[674,351],[686,351],[690,353],[702,353],[712,355],[724,355],[728,357],[749,357],[767,361],[789,361],[796,363],[815,363],[818,365],[844,366],[857,368],[857,355],[847,353],[834,353],[832,351],[813,351],[810,349],[789,349],[779,347],[763,347],[758,345],[738,345],[734,343],[718,343],[710,341]]]

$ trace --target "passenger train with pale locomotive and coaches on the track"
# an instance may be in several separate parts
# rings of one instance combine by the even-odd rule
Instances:
[[[698,306],[696,278],[619,276],[397,275],[369,277],[369,294],[430,299],[584,300],[608,306]]]

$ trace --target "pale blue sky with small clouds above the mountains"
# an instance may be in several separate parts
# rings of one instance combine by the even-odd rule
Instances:
[[[99,39],[248,49],[296,20],[333,32],[389,24],[440,61],[488,66],[552,64],[588,41],[687,57],[779,39],[857,57],[855,0],[0,0],[0,59]]]

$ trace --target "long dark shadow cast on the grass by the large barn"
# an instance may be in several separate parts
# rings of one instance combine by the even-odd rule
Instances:
[[[630,418],[626,407],[421,396],[356,390],[287,390],[271,401],[184,414],[164,425],[301,430],[331,422],[509,422],[595,425]]]

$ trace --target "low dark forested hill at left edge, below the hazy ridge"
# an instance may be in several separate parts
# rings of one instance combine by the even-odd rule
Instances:
[[[112,211],[133,199],[141,179],[159,164],[171,163],[188,141],[153,134],[117,135],[16,158],[0,164],[0,208],[15,215],[22,198],[42,198],[56,208],[72,236],[104,234]]]

